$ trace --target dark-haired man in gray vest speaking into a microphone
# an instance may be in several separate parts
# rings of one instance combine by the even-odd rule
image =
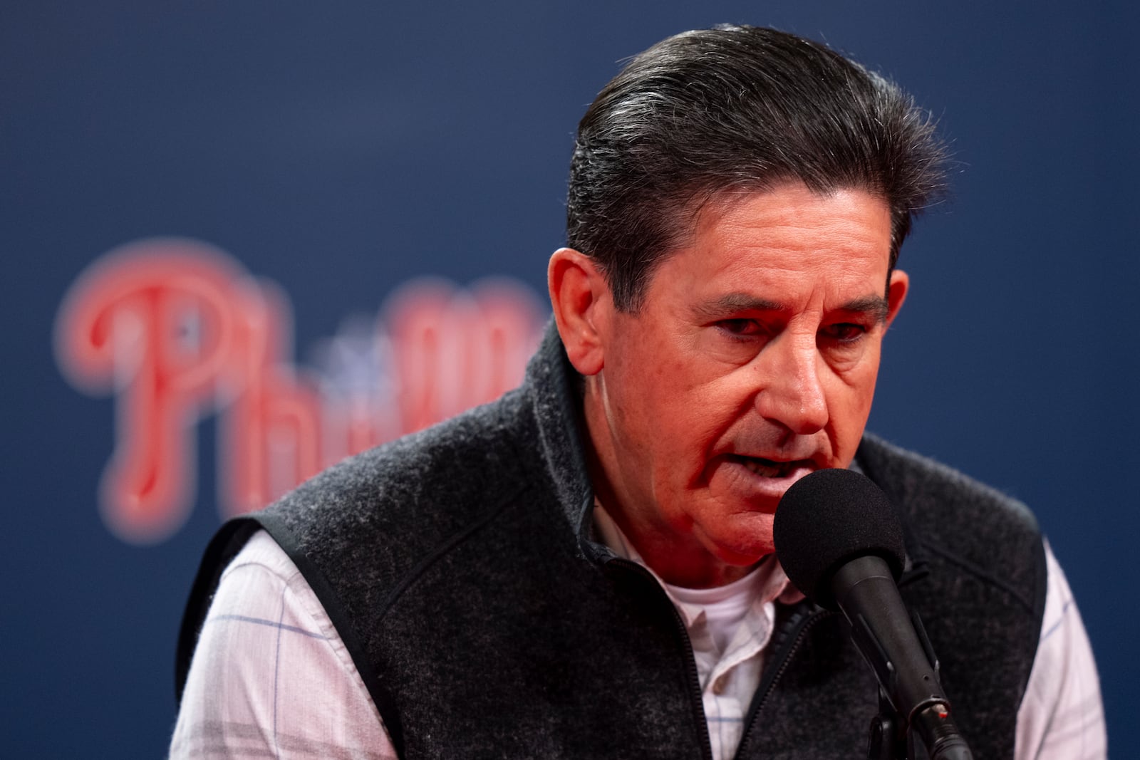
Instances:
[[[791,483],[852,467],[976,757],[1102,757],[1032,516],[863,431],[943,162],[894,84],[792,35],[633,59],[579,125],[524,384],[222,529],[172,754],[860,757],[874,679],[772,540]]]

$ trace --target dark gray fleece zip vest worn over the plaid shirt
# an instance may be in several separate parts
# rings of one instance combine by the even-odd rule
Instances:
[[[551,330],[520,389],[223,525],[182,623],[179,695],[221,571],[264,528],[327,610],[401,758],[710,757],[678,613],[592,534],[578,397]],[[905,521],[901,590],[960,728],[976,757],[1011,758],[1044,607],[1032,515],[871,436],[858,463]],[[865,757],[877,694],[841,615],[781,606],[736,757]]]

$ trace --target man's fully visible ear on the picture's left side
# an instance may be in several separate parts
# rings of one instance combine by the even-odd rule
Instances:
[[[573,248],[559,248],[546,268],[554,321],[570,363],[583,375],[605,366],[605,336],[613,300],[594,260]]]

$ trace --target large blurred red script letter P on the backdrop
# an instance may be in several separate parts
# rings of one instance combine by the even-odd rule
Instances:
[[[100,508],[123,540],[160,541],[189,514],[195,425],[235,361],[234,292],[242,279],[218,248],[154,238],[101,256],[64,299],[56,321],[60,368],[76,386],[116,397]]]

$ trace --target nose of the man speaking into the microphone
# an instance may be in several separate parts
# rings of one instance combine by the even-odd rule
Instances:
[[[798,435],[828,424],[828,402],[820,381],[822,357],[814,334],[784,332],[760,351],[760,389],[756,408]]]

